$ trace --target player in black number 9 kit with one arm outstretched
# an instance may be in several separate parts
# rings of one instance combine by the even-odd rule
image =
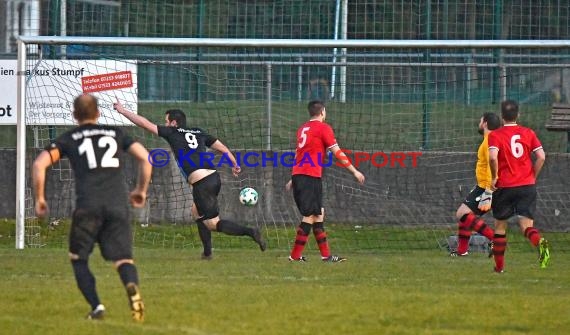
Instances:
[[[231,220],[220,219],[218,194],[221,189],[220,175],[211,161],[202,159],[202,153],[212,148],[227,157],[232,163],[232,172],[238,176],[241,168],[231,151],[217,138],[200,128],[188,128],[186,115],[178,109],[167,110],[165,125],[158,126],[145,117],[126,110],[119,101],[114,104],[115,110],[124,115],[137,126],[164,138],[184,175],[192,186],[192,215],[198,224],[198,234],[204,247],[202,259],[212,258],[211,231],[218,231],[228,235],[250,236],[265,251],[266,243],[257,228],[239,225]]]

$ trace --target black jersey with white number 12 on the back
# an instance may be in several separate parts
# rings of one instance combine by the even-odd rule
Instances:
[[[57,149],[69,159],[78,204],[124,199],[126,205],[121,156],[133,142],[120,128],[86,124],[62,134],[45,149]]]

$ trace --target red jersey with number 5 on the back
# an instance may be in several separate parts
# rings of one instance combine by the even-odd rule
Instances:
[[[327,150],[337,145],[334,132],[319,120],[305,122],[297,130],[297,149],[293,175],[321,177]]]

